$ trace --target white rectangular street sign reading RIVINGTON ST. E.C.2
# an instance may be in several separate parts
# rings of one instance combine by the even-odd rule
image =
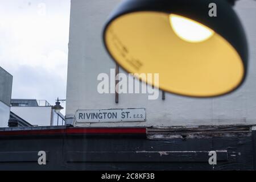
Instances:
[[[77,110],[77,123],[146,121],[144,108]]]

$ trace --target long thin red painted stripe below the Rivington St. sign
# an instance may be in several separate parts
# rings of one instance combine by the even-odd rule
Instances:
[[[146,128],[68,128],[48,130],[0,131],[0,135],[51,135],[51,134],[146,134]]]

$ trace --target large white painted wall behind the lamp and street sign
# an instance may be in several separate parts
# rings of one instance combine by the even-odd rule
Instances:
[[[256,124],[256,2],[238,1],[235,7],[249,41],[249,71],[236,92],[218,98],[188,98],[166,93],[158,100],[146,94],[97,92],[97,76],[115,68],[102,43],[102,28],[119,0],[71,0],[68,57],[67,116],[77,109],[145,107],[146,122],[91,123],[79,126],[174,126]],[[121,71],[123,72],[123,71]],[[159,93],[161,94],[161,93]]]

